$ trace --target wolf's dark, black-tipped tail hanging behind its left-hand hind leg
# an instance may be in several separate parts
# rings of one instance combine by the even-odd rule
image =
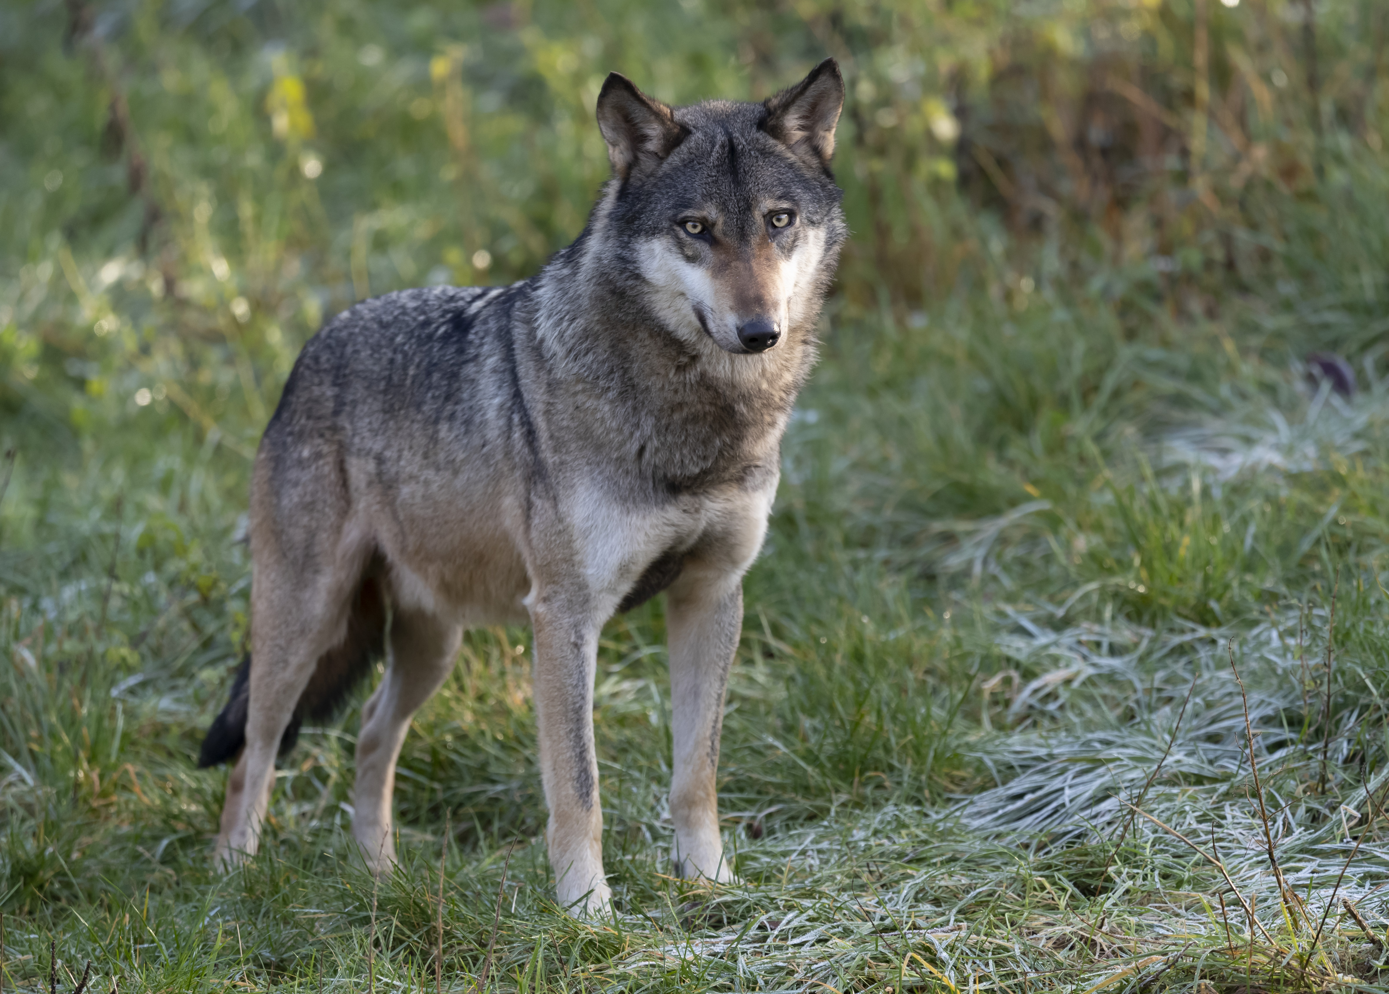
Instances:
[[[314,675],[294,707],[294,715],[279,740],[279,754],[285,755],[299,741],[299,727],[306,718],[326,721],[342,707],[371,665],[381,657],[386,640],[386,601],[381,582],[368,576],[353,597],[347,616],[347,630],[333,648],[318,658]],[[232,697],[203,739],[197,755],[200,769],[215,766],[240,755],[246,746],[246,712],[251,693],[251,658],[242,659],[232,684]]]

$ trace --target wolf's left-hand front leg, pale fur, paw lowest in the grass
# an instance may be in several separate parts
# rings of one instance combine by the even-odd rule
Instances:
[[[600,623],[579,603],[585,600],[540,593],[531,604],[531,621],[550,865],[560,905],[593,915],[607,911],[611,891],[603,875],[603,809],[593,750]]]

